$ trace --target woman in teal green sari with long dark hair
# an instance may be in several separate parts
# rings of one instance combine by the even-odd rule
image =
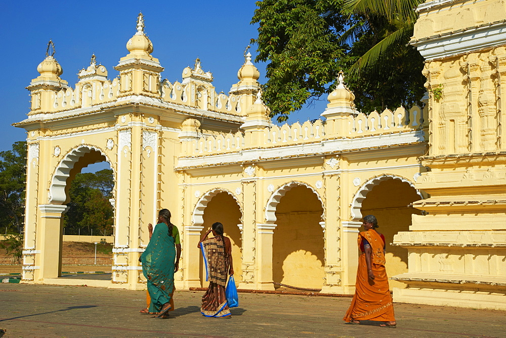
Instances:
[[[158,224],[146,250],[141,255],[142,272],[147,279],[147,286],[151,303],[150,313],[157,313],[153,318],[167,318],[168,311],[173,310],[174,273],[179,268],[181,245],[177,250],[176,240],[179,242],[179,231],[171,223],[171,212],[162,209],[158,213]],[[176,230],[176,236],[174,236]]]

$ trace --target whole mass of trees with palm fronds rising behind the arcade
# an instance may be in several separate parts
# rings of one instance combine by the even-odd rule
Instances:
[[[264,0],[256,61],[268,61],[263,98],[278,122],[329,93],[340,69],[359,110],[369,112],[423,96],[423,58],[406,46],[420,0]]]

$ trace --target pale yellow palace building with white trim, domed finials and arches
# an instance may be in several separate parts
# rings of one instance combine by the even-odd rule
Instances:
[[[228,95],[198,59],[181,83],[161,81],[142,15],[114,80],[92,57],[71,88],[48,53],[27,87],[28,117],[15,124],[28,135],[23,282],[75,282],[58,278],[68,188],[107,161],[112,280],[88,285],[145,288],[147,224],[167,208],[183,247],[177,288],[205,286],[196,245],[220,221],[239,288],[352,294],[360,220],[374,214],[394,301],[505,309],[505,11],[493,0],[418,7],[423,109],[362,114],[340,74],[324,121],[281,127],[249,53]]]

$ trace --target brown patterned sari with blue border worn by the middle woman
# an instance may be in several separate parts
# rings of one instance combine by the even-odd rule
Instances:
[[[205,280],[209,281],[209,287],[202,296],[200,312],[205,317],[230,316],[225,295],[225,285],[227,284],[229,270],[225,243],[220,236],[217,236],[206,239],[200,244],[207,273]]]

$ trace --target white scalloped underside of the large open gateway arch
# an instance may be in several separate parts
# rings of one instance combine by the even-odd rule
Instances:
[[[81,157],[92,151],[99,152],[105,157],[105,160],[111,165],[114,177],[116,177],[116,173],[114,172],[111,160],[107,157],[106,153],[101,148],[94,145],[81,144],[69,151],[56,167],[49,189],[49,202],[51,204],[65,203],[65,200],[67,199],[67,195],[65,194],[65,187],[67,186],[67,178],[70,175],[70,171],[74,168],[74,165],[77,163],[77,161],[79,161]]]

